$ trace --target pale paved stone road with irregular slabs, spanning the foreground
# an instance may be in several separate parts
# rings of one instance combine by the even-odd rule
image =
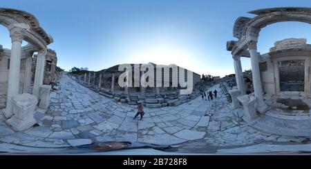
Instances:
[[[176,107],[144,108],[142,121],[133,120],[135,106],[79,85],[65,74],[53,92],[47,112],[37,110],[39,126],[14,132],[0,112],[0,142],[23,146],[59,148],[94,141],[131,141],[176,145],[187,149],[209,146],[245,146],[254,143],[301,142],[305,137],[283,137],[258,132],[234,116],[218,85],[218,99],[200,97]],[[238,116],[238,115],[237,115]]]

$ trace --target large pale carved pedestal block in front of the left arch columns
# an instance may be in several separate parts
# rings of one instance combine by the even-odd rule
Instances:
[[[35,107],[38,103],[37,97],[24,93],[12,97],[13,116],[6,121],[13,130],[23,131],[31,128],[37,121],[33,117]]]

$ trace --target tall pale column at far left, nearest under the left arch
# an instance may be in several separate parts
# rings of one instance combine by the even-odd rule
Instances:
[[[10,32],[12,40],[11,55],[10,55],[10,71],[8,74],[8,97],[6,109],[3,110],[3,115],[6,118],[12,117],[13,105],[12,97],[19,94],[19,75],[21,67],[21,42],[23,34],[19,32]]]

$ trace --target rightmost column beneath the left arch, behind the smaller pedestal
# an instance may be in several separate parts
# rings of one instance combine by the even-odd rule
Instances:
[[[32,94],[39,99],[39,88],[44,81],[44,63],[46,62],[46,50],[41,49],[37,54],[37,65],[35,72],[35,82],[33,85]]]

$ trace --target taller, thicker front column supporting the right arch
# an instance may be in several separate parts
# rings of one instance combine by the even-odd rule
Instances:
[[[267,105],[265,104],[265,102],[263,102],[263,87],[261,85],[261,73],[259,70],[257,42],[249,41],[248,48],[252,62],[252,77],[254,93],[256,97],[256,109],[258,110],[258,112],[264,113],[265,111],[267,111]]]

